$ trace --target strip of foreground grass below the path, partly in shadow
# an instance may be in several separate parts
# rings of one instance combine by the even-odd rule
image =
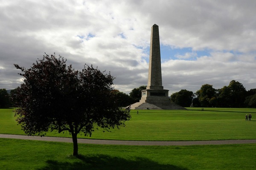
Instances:
[[[122,146],[0,139],[1,170],[254,170],[256,144]],[[251,160],[251,164],[249,163]]]

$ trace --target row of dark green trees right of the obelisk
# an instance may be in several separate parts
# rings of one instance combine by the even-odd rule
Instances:
[[[255,108],[256,89],[246,91],[240,82],[232,80],[221,89],[205,84],[196,93],[181,90],[171,95],[171,101],[183,107]]]

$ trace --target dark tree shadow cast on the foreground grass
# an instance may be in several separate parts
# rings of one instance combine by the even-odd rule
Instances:
[[[188,170],[171,164],[159,164],[147,158],[124,159],[108,155],[79,156],[76,162],[48,160],[38,170]],[[80,160],[79,160],[80,159]]]

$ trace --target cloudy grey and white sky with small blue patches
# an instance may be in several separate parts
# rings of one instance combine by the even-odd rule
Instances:
[[[151,26],[169,95],[236,80],[256,88],[255,0],[0,0],[0,89],[23,83],[44,53],[110,72],[129,94],[148,82]]]

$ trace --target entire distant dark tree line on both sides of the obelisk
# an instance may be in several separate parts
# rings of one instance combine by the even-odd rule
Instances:
[[[125,107],[139,102],[141,91],[145,89],[146,86],[142,85],[129,94],[119,90],[113,90],[112,94],[118,99],[117,105]],[[15,89],[12,93],[15,93]],[[256,88],[246,91],[240,82],[232,80],[221,89],[215,89],[209,84],[202,85],[195,93],[182,89],[173,93],[170,100],[183,107],[256,108]],[[13,107],[12,103],[6,89],[0,89],[0,108]]]

